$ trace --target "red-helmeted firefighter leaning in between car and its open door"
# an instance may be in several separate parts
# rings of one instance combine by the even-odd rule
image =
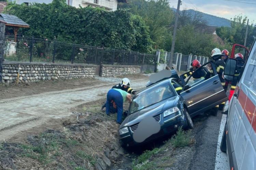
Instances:
[[[193,70],[196,70],[196,69],[198,69],[199,67],[201,67],[201,64],[200,64],[200,62],[199,62],[198,60],[193,60],[193,61],[191,62],[191,66],[192,66],[192,67],[189,69],[190,72],[187,73],[187,74],[184,74],[184,75],[182,76],[183,79],[188,78],[188,77],[194,72]],[[197,82],[197,81],[203,79],[206,74],[207,74],[207,72],[205,72],[204,68],[200,68],[200,69],[198,69],[198,70],[192,75],[192,77],[193,77],[194,81]]]

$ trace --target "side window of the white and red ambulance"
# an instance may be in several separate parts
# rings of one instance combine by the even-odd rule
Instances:
[[[244,84],[250,88],[251,85],[253,84],[255,80],[255,73],[256,73],[256,50],[254,51],[254,53],[252,54],[252,58],[249,62],[249,66],[248,69],[245,73],[245,77],[244,77]],[[256,89],[256,87],[253,87]]]

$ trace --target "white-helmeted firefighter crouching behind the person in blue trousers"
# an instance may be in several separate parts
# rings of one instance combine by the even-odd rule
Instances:
[[[126,92],[128,92],[129,94],[136,94],[137,91],[133,90],[131,87],[130,87],[130,80],[128,78],[124,78],[122,80],[121,83],[117,84],[117,85],[114,85],[112,87],[112,89],[116,88],[116,89],[121,89],[121,90],[124,90]],[[103,110],[103,108],[106,107],[106,103],[104,103],[102,106],[101,106],[101,110]],[[116,113],[117,112],[117,109],[115,109],[113,107],[113,104],[110,106],[110,112],[111,113]]]

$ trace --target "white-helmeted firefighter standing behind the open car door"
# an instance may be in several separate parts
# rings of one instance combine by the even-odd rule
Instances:
[[[215,64],[215,68],[218,73],[219,80],[221,81],[223,88],[225,88],[225,79],[223,77],[225,62],[224,60],[222,60],[222,56],[223,54],[221,53],[221,50],[219,50],[218,48],[215,48],[212,50],[212,58],[214,60],[213,62]],[[217,116],[218,110],[222,110],[224,108],[224,105],[225,105],[225,102],[215,106],[214,109],[212,110],[212,114],[214,116]]]

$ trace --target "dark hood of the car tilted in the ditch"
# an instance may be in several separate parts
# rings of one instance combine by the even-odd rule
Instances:
[[[120,125],[120,129],[141,122],[141,120],[147,116],[153,117],[163,113],[163,111],[176,106],[179,98],[180,96],[174,96],[127,116],[123,123]]]

